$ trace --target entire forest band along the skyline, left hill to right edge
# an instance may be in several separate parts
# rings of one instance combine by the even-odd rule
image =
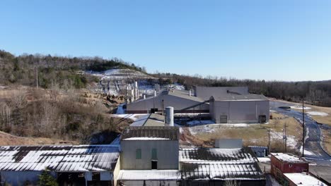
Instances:
[[[35,86],[36,73],[40,87],[79,89],[88,82],[98,82],[97,77],[83,75],[82,70],[103,71],[112,68],[127,68],[146,73],[146,68],[127,63],[118,58],[110,60],[100,57],[65,57],[40,54],[14,56],[0,50],[0,84]],[[202,75],[177,75],[173,73],[149,74],[158,77],[159,84],[178,82],[187,89],[198,86],[248,86],[251,93],[287,101],[305,99],[309,104],[331,106],[331,80],[284,82],[265,80],[238,80],[223,77],[202,77]]]

